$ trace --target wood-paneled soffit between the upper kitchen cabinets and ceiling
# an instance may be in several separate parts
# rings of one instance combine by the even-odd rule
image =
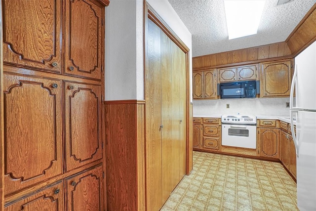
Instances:
[[[315,40],[316,4],[284,42],[193,57],[193,70],[293,58]]]

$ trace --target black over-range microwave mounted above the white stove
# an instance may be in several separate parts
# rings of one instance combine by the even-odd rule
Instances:
[[[221,83],[217,86],[217,93],[222,99],[227,98],[254,98],[260,93],[259,81],[243,81]]]

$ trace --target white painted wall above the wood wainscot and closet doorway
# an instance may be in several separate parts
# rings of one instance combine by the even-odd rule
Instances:
[[[169,1],[148,3],[191,51],[191,33]],[[144,99],[143,8],[143,0],[112,0],[106,7],[105,100]],[[190,64],[192,74],[191,55]]]

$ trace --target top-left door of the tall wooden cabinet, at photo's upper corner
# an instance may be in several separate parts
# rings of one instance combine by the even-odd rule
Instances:
[[[61,0],[2,0],[3,62],[61,72]]]

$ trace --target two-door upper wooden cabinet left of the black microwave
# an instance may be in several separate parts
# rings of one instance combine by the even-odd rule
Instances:
[[[193,73],[193,99],[217,99],[216,69]]]

